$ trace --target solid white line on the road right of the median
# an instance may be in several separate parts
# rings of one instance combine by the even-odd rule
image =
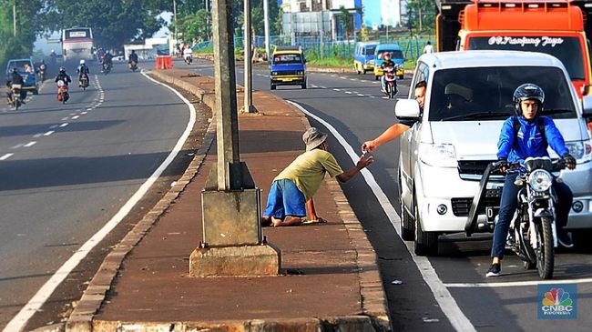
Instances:
[[[355,165],[355,163],[358,162],[360,157],[354,152],[352,146],[347,143],[345,138],[343,138],[343,136],[333,126],[331,126],[331,124],[323,120],[321,117],[311,114],[309,111],[304,109],[304,107],[291,101],[288,102],[293,106],[298,107],[307,116],[311,116],[323,126],[327,127],[332,135],[335,136],[337,141],[343,146],[345,152],[350,156],[350,158],[352,158],[353,164]],[[373,174],[367,168],[363,168],[360,173],[362,174],[368,186],[370,186],[372,189],[374,196],[376,196],[376,199],[378,200],[378,203],[380,203],[380,205],[383,207],[384,213],[389,218],[389,221],[391,222],[391,225],[393,225],[397,235],[401,237],[399,227],[401,224],[401,217],[397,214],[397,211],[394,209],[388,197],[384,194],[383,189],[378,185],[378,183],[376,183]],[[446,315],[448,320],[450,320],[450,324],[454,327],[454,329],[457,331],[476,331],[473,324],[471,324],[471,321],[466,316],[464,316],[463,311],[456,304],[454,297],[452,297],[448,289],[444,287],[444,283],[436,274],[430,261],[426,257],[418,257],[415,255],[413,253],[413,245],[411,242],[403,241],[403,244],[407,247],[407,250],[413,258],[415,265],[418,267],[422,277],[424,277],[425,283],[432,290],[436,302],[444,312],[444,315]]]

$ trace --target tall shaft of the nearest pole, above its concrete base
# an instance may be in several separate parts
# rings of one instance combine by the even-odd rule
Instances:
[[[232,0],[213,1],[215,114],[218,119],[218,190],[240,189],[239,115],[237,112]]]

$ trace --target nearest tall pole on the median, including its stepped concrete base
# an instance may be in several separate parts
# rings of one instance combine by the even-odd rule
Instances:
[[[218,162],[201,191],[203,240],[189,256],[189,276],[277,276],[280,250],[263,240],[260,189],[240,161],[232,0],[212,5]]]

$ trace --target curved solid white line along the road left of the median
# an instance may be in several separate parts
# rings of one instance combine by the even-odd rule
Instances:
[[[167,169],[170,163],[172,163],[173,159],[175,159],[175,157],[179,155],[179,152],[185,144],[185,141],[187,141],[189,134],[191,133],[191,128],[193,128],[193,126],[195,125],[195,107],[193,107],[193,105],[189,103],[189,100],[187,100],[184,96],[179,94],[179,92],[173,89],[172,87],[155,81],[143,72],[141,74],[147,77],[150,81],[157,83],[158,85],[166,86],[169,90],[174,92],[175,95],[179,96],[179,98],[187,106],[189,106],[189,122],[185,128],[185,131],[179,137],[177,144],[168,154],[167,159],[165,159],[165,161],[163,161],[162,164],[158,166],[157,170],[155,170],[154,173],[150,177],[148,177],[146,182],[144,182],[142,186],[138,188],[138,191],[129,198],[128,202],[126,202],[124,206],[121,206],[119,211],[117,211],[117,214],[113,216],[107,222],[107,224],[105,224],[105,226],[99,229],[94,236],[89,238],[84,245],[80,246],[77,252],[72,257],[70,257],[66,261],[66,263],[64,263],[61,267],[59,267],[59,269],[57,269],[56,273],[52,277],[50,277],[49,280],[47,280],[41,288],[39,288],[36,295],[31,297],[31,299],[27,302],[26,306],[22,307],[18,314],[16,314],[16,316],[13,317],[13,319],[8,323],[8,325],[5,326],[3,332],[20,331],[21,329],[23,329],[23,327],[26,326],[27,321],[31,317],[33,317],[33,315],[37,312],[37,310],[39,310],[40,307],[44,305],[44,303],[46,303],[47,298],[49,298],[51,294],[54,292],[54,290],[56,290],[56,287],[58,287],[62,283],[62,281],[64,281],[64,279],[72,272],[72,270],[74,270],[74,268],[77,267],[77,265],[80,263],[80,261],[82,261],[82,259],[87,257],[90,250],[97,246],[97,244],[101,242],[101,240],[105,238],[105,236],[107,236],[109,232],[111,232],[111,230],[115,228],[115,226],[117,226],[125,216],[128,215],[129,211],[138,203],[142,196],[144,196],[148,192],[148,189],[158,179],[158,176],[160,176],[165,171],[165,169]],[[12,156],[12,154],[9,155]],[[7,157],[9,156],[2,156],[0,157],[0,160],[5,160],[5,158]]]

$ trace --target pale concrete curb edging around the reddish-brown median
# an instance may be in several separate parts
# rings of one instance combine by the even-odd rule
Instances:
[[[214,109],[215,95],[212,90],[206,90],[199,86],[189,84],[182,79],[166,74],[165,71],[152,71],[149,73],[160,81],[179,86],[189,93],[197,96],[199,100],[209,108]],[[213,80],[213,79],[212,79]],[[241,90],[239,88],[238,90]],[[289,105],[281,98],[269,95],[285,103],[286,106],[296,112],[302,123],[310,127],[310,123],[294,106]],[[168,193],[152,208],[144,218],[138,222],[127,236],[107,255],[97,274],[90,281],[77,307],[66,322],[66,331],[390,331],[390,321],[386,308],[386,299],[383,290],[383,282],[377,267],[377,257],[373,246],[368,241],[363,228],[352,211],[347,198],[343,195],[342,188],[333,178],[328,179],[328,186],[335,204],[339,207],[339,214],[346,226],[348,236],[352,241],[352,247],[356,251],[356,265],[360,280],[360,302],[362,312],[359,316],[344,317],[310,317],[298,319],[265,319],[265,320],[241,320],[225,322],[123,322],[102,321],[94,319],[117,277],[117,271],[123,260],[138,245],[150,227],[158,221],[173,201],[185,189],[191,179],[198,174],[199,168],[208,154],[209,148],[215,139],[215,120],[209,125],[204,142],[194,156],[186,172],[178,183],[171,187]]]

